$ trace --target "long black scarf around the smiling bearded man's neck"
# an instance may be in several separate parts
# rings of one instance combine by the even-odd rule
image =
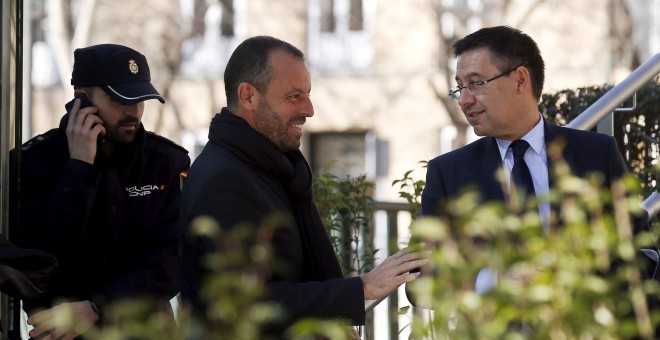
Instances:
[[[312,171],[300,150],[282,152],[227,108],[211,121],[209,141],[222,145],[250,166],[278,178],[291,203],[304,252],[307,280],[343,277],[328,233],[312,197]],[[328,256],[332,254],[332,256]]]

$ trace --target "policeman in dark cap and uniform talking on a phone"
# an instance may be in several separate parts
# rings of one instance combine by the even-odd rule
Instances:
[[[74,59],[76,98],[59,128],[14,157],[16,242],[59,261],[45,293],[24,301],[34,338],[78,336],[112,320],[106,307],[122,300],[148,298],[172,314],[179,290],[180,182],[190,158],[140,122],[145,100],[165,102],[147,60],[113,44],[77,49]]]

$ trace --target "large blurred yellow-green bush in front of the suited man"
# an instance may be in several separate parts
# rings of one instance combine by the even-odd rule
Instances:
[[[660,287],[642,279],[636,251],[651,236],[633,237],[628,218],[639,212],[637,180],[602,190],[598,176],[557,172],[549,200],[559,215],[547,235],[535,208],[483,204],[477,192],[451,202],[447,218],[413,223],[413,236],[434,245],[437,268],[409,284],[418,303],[434,307],[431,322],[415,319],[414,338],[655,338],[660,311],[644,297]],[[484,268],[497,283],[478,293]]]

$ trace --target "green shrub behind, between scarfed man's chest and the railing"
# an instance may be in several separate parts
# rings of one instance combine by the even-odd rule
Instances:
[[[371,191],[366,176],[341,179],[330,165],[313,182],[314,201],[330,235],[345,276],[361,275],[373,269],[374,249]]]

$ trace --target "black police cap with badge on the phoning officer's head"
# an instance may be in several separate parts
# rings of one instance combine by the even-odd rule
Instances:
[[[73,86],[99,86],[112,100],[132,105],[165,99],[151,85],[149,64],[140,52],[122,45],[101,44],[73,52]]]

